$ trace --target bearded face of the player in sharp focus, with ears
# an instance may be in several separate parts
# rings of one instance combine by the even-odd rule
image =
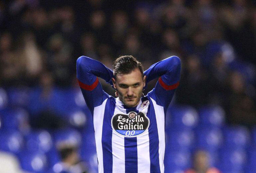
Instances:
[[[139,104],[146,76],[138,68],[129,74],[117,74],[116,80],[112,78],[114,88],[118,92],[119,99],[127,107],[135,107]]]

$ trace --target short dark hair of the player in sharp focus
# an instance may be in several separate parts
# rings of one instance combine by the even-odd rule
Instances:
[[[134,58],[131,55],[125,55],[125,56],[120,56],[119,58],[117,58],[114,61],[114,77],[116,78],[117,74],[129,74],[131,73],[133,70],[135,70],[136,68],[139,68],[142,77],[143,75],[143,66],[141,64],[141,62],[139,62],[138,60],[136,60],[136,58]]]

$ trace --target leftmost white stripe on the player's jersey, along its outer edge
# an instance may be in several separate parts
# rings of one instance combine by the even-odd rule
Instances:
[[[96,151],[97,151],[97,157],[99,162],[98,172],[104,172],[101,137],[102,137],[102,125],[103,125],[103,117],[104,117],[106,102],[107,102],[107,99],[104,100],[102,105],[95,107],[93,110],[93,126],[95,131]]]

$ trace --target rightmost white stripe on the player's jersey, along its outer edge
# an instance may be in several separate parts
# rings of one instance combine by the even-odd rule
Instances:
[[[164,156],[165,156],[165,114],[164,107],[156,104],[156,101],[152,98],[152,103],[154,105],[156,120],[157,120],[157,130],[159,138],[159,165],[161,173],[164,173]]]

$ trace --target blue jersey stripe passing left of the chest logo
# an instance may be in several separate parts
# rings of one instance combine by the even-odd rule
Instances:
[[[111,116],[114,114],[115,104],[111,104],[112,97],[106,102],[103,125],[102,125],[102,154],[103,154],[103,169],[104,172],[112,172],[113,156],[112,156],[112,127]],[[115,101],[114,101],[115,102]]]

